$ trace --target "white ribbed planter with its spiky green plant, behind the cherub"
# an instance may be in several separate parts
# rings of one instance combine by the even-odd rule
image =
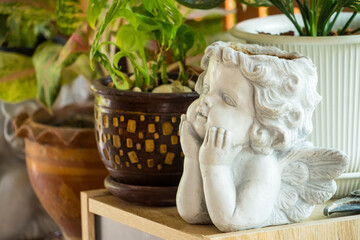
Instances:
[[[197,1],[184,1],[196,7]],[[357,72],[360,35],[356,34],[360,30],[359,2],[239,2],[251,6],[273,5],[283,12],[283,15],[240,22],[230,32],[239,41],[297,51],[313,60],[318,68],[318,92],[323,100],[315,110],[314,130],[309,140],[316,146],[341,149],[350,156],[349,166],[337,180],[335,197],[346,196],[360,188],[360,108],[357,104],[360,102],[360,75]],[[295,6],[300,14],[294,13]],[[344,9],[348,12],[343,12]]]

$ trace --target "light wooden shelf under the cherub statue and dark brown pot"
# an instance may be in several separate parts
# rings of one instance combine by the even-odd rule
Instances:
[[[95,215],[169,240],[360,239],[360,215],[338,214],[325,217],[322,214],[325,205],[317,206],[311,217],[301,223],[221,233],[213,225],[186,223],[178,214],[176,207],[136,206],[101,189],[81,193],[83,239],[95,239]]]

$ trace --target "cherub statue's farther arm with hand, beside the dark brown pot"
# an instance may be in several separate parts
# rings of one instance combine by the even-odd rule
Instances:
[[[191,124],[182,119],[180,139],[185,155],[184,172],[176,194],[176,205],[180,216],[192,224],[211,223],[206,209],[204,190],[199,165],[200,142]]]

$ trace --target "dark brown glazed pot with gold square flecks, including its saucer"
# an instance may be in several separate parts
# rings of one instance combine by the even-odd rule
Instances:
[[[105,187],[134,204],[175,205],[183,170],[181,114],[198,98],[192,93],[139,93],[95,81],[96,140],[110,172]]]

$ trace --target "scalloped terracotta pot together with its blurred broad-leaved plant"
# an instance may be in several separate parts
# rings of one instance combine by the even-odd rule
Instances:
[[[89,80],[98,75],[88,64],[89,28],[85,18],[76,18],[86,15],[86,7],[71,0],[45,2],[54,3],[54,8],[47,9],[39,1],[8,7],[26,9],[26,13],[49,11],[49,24],[66,36],[65,44],[35,44],[29,57],[0,52],[5,58],[0,64],[0,98],[10,103],[36,98],[43,105],[31,116],[17,117],[15,132],[25,138],[27,171],[41,204],[65,239],[81,239],[80,191],[102,188],[107,174],[96,148],[93,103],[60,110],[54,110],[53,105],[60,90],[79,74]],[[33,21],[25,15],[18,17]],[[11,45],[9,39],[5,43]],[[76,93],[80,92],[77,89]]]

